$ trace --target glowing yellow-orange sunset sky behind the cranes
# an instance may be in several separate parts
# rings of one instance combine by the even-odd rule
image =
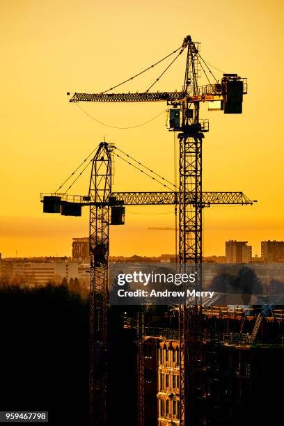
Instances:
[[[205,211],[205,255],[222,255],[226,239],[284,239],[283,1],[1,0],[0,252],[4,257],[70,255],[72,237],[88,234],[82,218],[42,213],[40,192],[54,191],[106,140],[173,180],[173,134],[164,114],[135,129],[91,120],[66,92],[100,92],[179,47],[191,34],[201,56],[225,72],[248,77],[244,113],[207,111],[203,189],[244,191],[253,207]],[[185,54],[155,90],[180,90]],[[164,65],[163,65],[164,66]],[[148,88],[163,68],[120,91]],[[216,77],[221,74],[216,70]],[[143,123],[166,104],[80,104],[109,125]],[[114,191],[162,187],[116,161]],[[88,192],[88,173],[71,194]],[[141,214],[155,213],[155,214]],[[156,214],[163,213],[163,214]],[[173,207],[128,207],[127,224],[111,228],[111,254],[173,253]],[[123,242],[122,242],[123,240]]]

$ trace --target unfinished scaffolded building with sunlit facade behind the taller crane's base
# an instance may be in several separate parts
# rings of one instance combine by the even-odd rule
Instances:
[[[262,425],[255,423],[257,418],[278,418],[283,318],[281,308],[244,312],[212,306],[203,311],[198,424]],[[146,327],[144,343],[145,425],[180,425],[178,329]]]

